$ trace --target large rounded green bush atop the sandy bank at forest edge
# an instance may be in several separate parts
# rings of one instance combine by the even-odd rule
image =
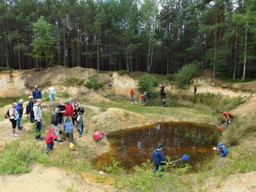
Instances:
[[[198,61],[184,65],[176,74],[178,88],[184,88],[187,84],[190,84],[192,78],[201,75],[199,67],[200,62]]]

